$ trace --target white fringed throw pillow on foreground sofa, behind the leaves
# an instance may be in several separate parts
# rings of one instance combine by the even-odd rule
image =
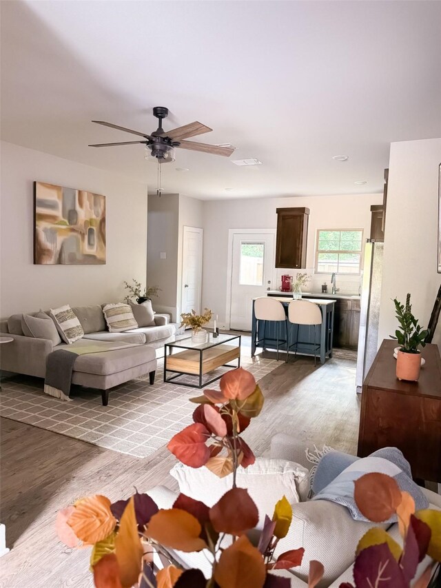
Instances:
[[[179,490],[201,500],[212,507],[221,496],[232,488],[233,474],[218,478],[207,467],[189,467],[177,463],[170,474],[178,480]],[[238,467],[236,485],[246,488],[249,496],[256,503],[259,511],[258,527],[263,527],[265,514],[271,518],[274,506],[284,495],[289,504],[299,501],[299,487],[308,487],[308,470],[297,463],[283,459],[256,458],[256,462],[248,467]]]

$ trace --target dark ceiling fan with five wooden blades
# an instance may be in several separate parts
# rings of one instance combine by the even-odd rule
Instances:
[[[150,150],[150,154],[152,157],[156,157],[158,163],[174,161],[173,152],[175,147],[226,157],[229,157],[234,152],[234,147],[222,147],[209,145],[208,143],[196,143],[196,141],[185,141],[184,139],[190,136],[196,136],[213,130],[198,122],[189,123],[188,125],[183,125],[183,127],[178,127],[170,131],[163,130],[163,119],[168,116],[168,108],[165,108],[165,106],[155,106],[153,115],[158,119],[158,128],[151,134],[134,131],[120,127],[119,125],[112,125],[112,123],[105,123],[104,121],[92,121],[92,123],[98,125],[104,125],[105,127],[142,136],[144,140],[124,141],[123,143],[99,143],[98,145],[89,145],[89,147],[112,147],[114,145],[134,145],[135,143],[141,143],[142,145],[146,145],[147,149]]]

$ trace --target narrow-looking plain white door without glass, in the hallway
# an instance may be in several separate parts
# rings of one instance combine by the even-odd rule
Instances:
[[[201,312],[203,230],[184,227],[181,312]]]

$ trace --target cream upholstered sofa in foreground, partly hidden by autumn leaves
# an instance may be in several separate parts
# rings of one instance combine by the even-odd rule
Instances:
[[[274,460],[290,460],[302,467],[311,469],[311,463],[305,456],[305,446],[294,438],[285,434],[278,434],[271,440],[271,458]],[[173,472],[173,471],[172,471]],[[213,476],[213,483],[218,480]],[[262,485],[264,488],[265,485]],[[441,496],[428,489],[421,489],[429,500],[429,508],[441,510]],[[210,488],[205,488],[207,493]],[[214,491],[211,489],[211,491]],[[268,487],[262,492],[267,492]],[[188,492],[188,491],[187,491]],[[172,508],[178,494],[170,489],[160,486],[147,491],[159,508]],[[191,496],[191,494],[189,494]],[[200,496],[192,496],[196,500]],[[279,497],[272,496],[275,502]],[[254,501],[259,508],[259,502],[265,502],[267,496],[254,496]],[[305,548],[305,555],[300,567],[291,570],[272,570],[271,574],[283,576],[291,580],[291,588],[307,588],[308,569],[310,560],[318,560],[325,567],[325,574],[318,584],[318,588],[339,588],[343,582],[353,583],[353,563],[355,551],[360,538],[370,527],[378,527],[376,523],[353,520],[349,511],[342,505],[328,500],[307,500],[292,505],[293,520],[287,536],[280,540],[274,556],[277,557],[289,549]],[[398,524],[382,525],[389,534],[402,543]],[[209,560],[202,552],[183,553],[174,551],[174,557],[184,567],[198,567],[206,575],[211,571]],[[422,574],[427,566],[429,557],[426,556],[420,563],[416,578]]]

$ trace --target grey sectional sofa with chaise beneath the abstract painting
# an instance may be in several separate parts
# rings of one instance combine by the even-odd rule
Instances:
[[[74,349],[96,342],[103,347],[103,352],[78,356],[72,373],[73,384],[100,389],[103,405],[107,405],[108,391],[116,385],[146,374],[150,374],[150,383],[154,383],[155,349],[170,341],[175,333],[167,316],[155,315],[155,325],[151,327],[110,333],[106,330],[101,305],[72,307],[72,310],[84,331],[84,336],[72,345],[53,345],[48,339],[25,336],[21,314],[13,314],[7,321],[1,321],[0,336],[9,336],[13,341],[1,346],[0,369],[44,378],[48,354],[57,349]],[[38,313],[28,314],[35,316]],[[118,349],[108,349],[115,343],[119,343]]]

